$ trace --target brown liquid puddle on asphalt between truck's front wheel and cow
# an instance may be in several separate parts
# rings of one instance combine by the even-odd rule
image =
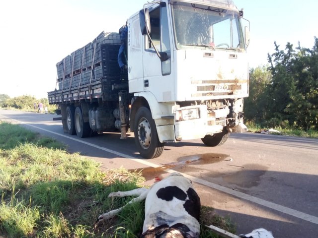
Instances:
[[[213,154],[213,153],[183,156],[178,158],[177,162],[164,164],[162,165],[162,167],[158,167],[158,168],[147,167],[144,169],[136,169],[131,171],[141,172],[143,177],[145,177],[146,180],[151,180],[151,179],[155,179],[156,177],[162,174],[165,174],[166,172],[164,170],[166,169],[173,169],[176,171],[178,171],[179,169],[182,169],[182,173],[186,173],[187,168],[189,168],[187,167],[188,165],[207,165],[207,164],[218,163],[225,160],[227,157],[229,157],[229,155]]]

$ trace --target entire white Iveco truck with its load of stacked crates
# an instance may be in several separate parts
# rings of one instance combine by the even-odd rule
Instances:
[[[58,87],[48,97],[59,105],[64,131],[85,137],[120,130],[125,138],[130,129],[148,159],[165,142],[201,138],[217,146],[245,131],[249,38],[242,16],[231,0],[146,3],[127,20],[123,42],[102,32],[57,63]]]

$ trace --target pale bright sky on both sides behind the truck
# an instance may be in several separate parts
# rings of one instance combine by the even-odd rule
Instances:
[[[4,0],[0,2],[0,94],[47,98],[56,63],[100,32],[118,32],[146,0]],[[250,21],[249,67],[267,64],[274,42],[313,48],[317,0],[234,0]]]

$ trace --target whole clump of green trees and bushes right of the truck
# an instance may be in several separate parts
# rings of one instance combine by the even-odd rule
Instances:
[[[275,42],[268,55],[271,77],[265,68],[250,70],[250,98],[245,100],[245,116],[264,126],[318,130],[318,38],[312,49],[285,51]]]

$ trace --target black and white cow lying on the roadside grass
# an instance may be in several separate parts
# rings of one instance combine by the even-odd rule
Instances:
[[[172,173],[149,189],[112,192],[108,197],[132,195],[138,197],[129,203],[146,199],[141,238],[199,238],[201,204],[190,179]],[[123,207],[104,213],[98,217],[98,221],[112,218],[122,209]]]

